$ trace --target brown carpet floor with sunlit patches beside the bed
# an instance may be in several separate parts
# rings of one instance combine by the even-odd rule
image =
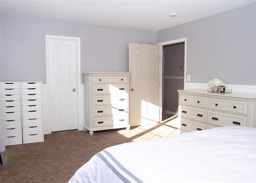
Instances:
[[[112,145],[176,134],[174,120],[126,129],[69,130],[44,135],[44,142],[6,146],[1,183],[66,183],[98,151]]]

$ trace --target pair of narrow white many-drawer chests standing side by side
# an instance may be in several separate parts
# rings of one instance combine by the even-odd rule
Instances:
[[[0,83],[6,145],[44,141],[41,86],[41,82]]]

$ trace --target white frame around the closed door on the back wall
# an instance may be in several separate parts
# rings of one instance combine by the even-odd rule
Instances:
[[[80,38],[78,37],[69,37],[69,36],[53,36],[53,35],[46,35],[45,41],[46,41],[46,106],[47,106],[47,114],[50,114],[50,87],[49,87],[49,55],[48,55],[48,40],[50,39],[58,39],[58,40],[72,40],[76,41],[76,91],[77,91],[77,123],[78,123],[78,130],[82,130],[82,98],[81,98],[81,58],[80,58]],[[51,121],[50,121],[50,115],[47,115],[47,121],[48,121],[48,133],[52,133],[51,129]]]

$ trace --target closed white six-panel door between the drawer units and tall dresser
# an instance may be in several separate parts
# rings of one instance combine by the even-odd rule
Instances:
[[[78,129],[77,42],[48,39],[51,131]]]

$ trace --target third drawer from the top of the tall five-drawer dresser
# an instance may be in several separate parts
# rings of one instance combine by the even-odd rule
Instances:
[[[128,103],[128,95],[121,96],[94,96],[93,105],[110,105],[110,104]]]

